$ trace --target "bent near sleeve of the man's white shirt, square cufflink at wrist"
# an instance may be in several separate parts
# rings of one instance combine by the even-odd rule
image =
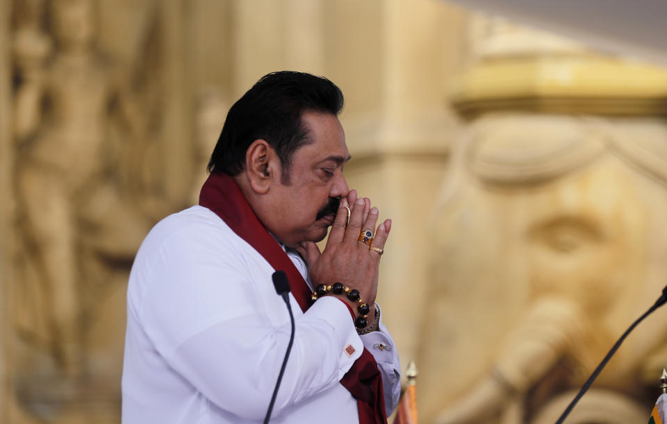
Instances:
[[[261,421],[291,330],[289,319],[275,325],[267,312],[281,307],[287,316],[270,273],[265,275],[273,291],[269,298],[258,289],[264,282],[249,278],[252,271],[237,252],[177,234],[151,262],[139,310],[158,353],[217,407]],[[318,300],[305,314],[295,311],[295,328],[276,416],[338,384],[363,350],[347,306],[336,298]]]

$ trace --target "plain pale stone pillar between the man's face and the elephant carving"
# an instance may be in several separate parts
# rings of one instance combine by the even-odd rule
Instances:
[[[338,2],[327,16],[327,69],[347,104],[345,175],[381,219],[393,219],[378,302],[407,364],[431,287],[429,216],[458,128],[444,99],[463,60],[466,15],[445,3],[387,0]]]

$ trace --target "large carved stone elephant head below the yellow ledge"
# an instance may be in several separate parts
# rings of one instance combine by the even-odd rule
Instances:
[[[665,146],[659,118],[507,112],[470,124],[434,220],[426,417],[556,421],[665,285]],[[573,422],[645,419],[665,312],[624,342]]]

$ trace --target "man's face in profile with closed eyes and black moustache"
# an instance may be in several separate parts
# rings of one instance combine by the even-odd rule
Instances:
[[[270,230],[290,247],[324,239],[334,222],[338,198],[349,192],[343,177],[349,153],[338,118],[304,112],[302,122],[313,142],[295,151],[288,180],[280,178],[270,189],[274,215]]]

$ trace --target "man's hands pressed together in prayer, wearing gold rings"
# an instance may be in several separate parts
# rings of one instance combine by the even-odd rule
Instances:
[[[347,227],[345,207],[350,209]],[[297,247],[297,251],[308,263],[313,287],[342,282],[350,289],[357,289],[361,299],[371,308],[370,316],[374,315],[380,255],[363,241],[359,241],[359,235],[361,230],[373,231],[372,246],[384,249],[391,229],[391,220],[386,219],[376,227],[378,217],[379,211],[377,207],[370,207],[370,199],[358,198],[356,191],[352,190],[347,198],[340,201],[324,250],[320,253],[317,244],[312,241],[304,241]],[[354,306],[354,303],[345,296],[339,297]],[[357,313],[356,307],[352,307],[352,310]]]

